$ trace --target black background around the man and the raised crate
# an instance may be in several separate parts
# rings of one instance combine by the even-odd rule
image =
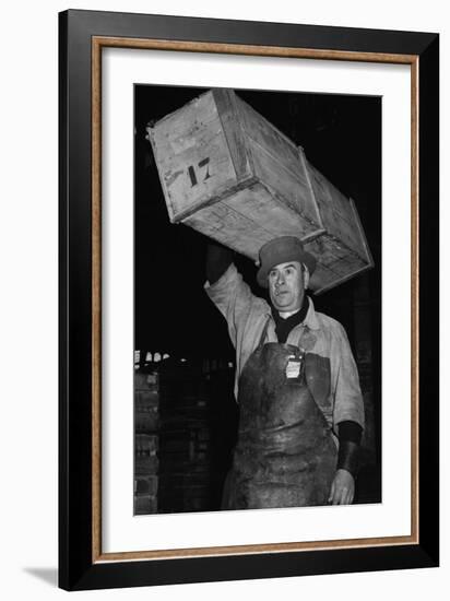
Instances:
[[[211,459],[215,493],[208,507],[199,508],[214,509],[217,508],[234,441],[233,435],[225,436],[224,432],[234,432],[237,420],[232,393],[233,374],[226,374],[226,368],[229,370],[229,364],[234,362],[234,349],[225,320],[203,291],[208,238],[185,225],[169,223],[145,131],[149,122],[177,110],[203,92],[204,89],[196,87],[135,86],[134,347],[141,351],[141,363],[137,366],[141,372],[170,368],[171,377],[178,378],[175,374],[181,367],[187,373],[191,365],[194,372],[199,368],[206,374],[210,387],[204,393],[210,411],[206,421],[216,441],[212,444],[215,450],[213,448]],[[248,90],[236,90],[236,93],[301,145],[308,161],[341,192],[351,197],[358,210],[375,268],[322,295],[312,295],[312,298],[316,309],[338,319],[348,334],[358,365],[367,421],[358,498],[359,502],[379,500],[381,98]],[[256,285],[252,262],[239,257],[237,263],[253,291],[263,295],[264,292]],[[145,362],[149,351],[167,353],[170,360],[163,362],[165,365],[150,365]],[[181,358],[187,360],[182,365],[178,363]],[[221,372],[221,366],[225,372]],[[212,372],[216,372],[215,378],[211,377]],[[186,378],[182,381],[186,388]],[[220,397],[220,400],[212,400],[212,396]],[[166,412],[170,403],[177,404],[174,398],[166,403],[162,400],[162,423],[173,419],[173,414]],[[164,463],[161,447],[159,462]],[[159,488],[164,488],[161,483]],[[170,502],[166,507],[162,503],[158,505],[159,511],[189,509],[182,503],[179,508]]]

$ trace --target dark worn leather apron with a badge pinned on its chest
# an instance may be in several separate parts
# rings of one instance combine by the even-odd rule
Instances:
[[[328,360],[264,343],[268,325],[239,378],[239,432],[223,509],[327,505],[336,470],[336,445],[313,398],[329,396]]]

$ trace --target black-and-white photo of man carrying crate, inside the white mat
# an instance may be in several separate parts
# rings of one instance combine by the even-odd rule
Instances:
[[[380,503],[379,96],[134,86],[134,512]]]

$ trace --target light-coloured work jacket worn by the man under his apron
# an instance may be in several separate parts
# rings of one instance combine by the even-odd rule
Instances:
[[[205,291],[225,317],[228,332],[236,349],[235,396],[237,398],[239,376],[247,360],[258,346],[267,321],[269,327],[264,342],[277,342],[275,322],[270,305],[254,296],[230,264],[226,272]],[[331,317],[315,310],[309,298],[309,308],[303,323],[289,332],[288,344],[299,345],[307,353],[315,353],[330,360],[330,397],[320,409],[330,427],[352,420],[364,428],[364,403],[359,377],[344,328]]]

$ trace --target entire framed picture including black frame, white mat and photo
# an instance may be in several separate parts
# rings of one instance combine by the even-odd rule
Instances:
[[[437,34],[60,14],[60,586],[439,557]]]

